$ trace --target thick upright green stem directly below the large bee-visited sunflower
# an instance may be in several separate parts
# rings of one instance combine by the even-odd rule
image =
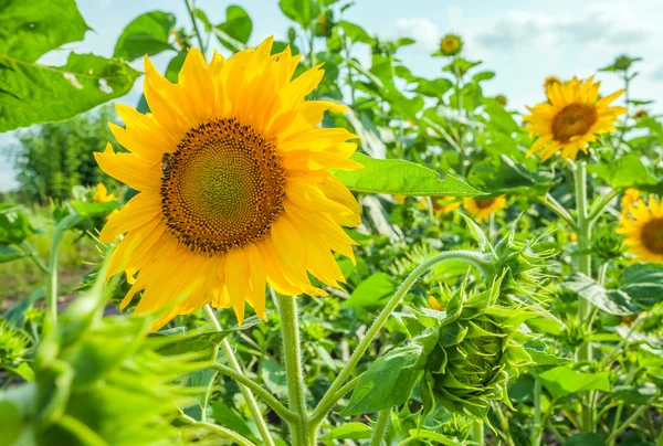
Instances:
[[[297,319],[297,302],[294,296],[278,295],[278,311],[281,315],[281,332],[283,336],[283,359],[287,381],[290,410],[295,414],[291,422],[293,446],[315,445],[315,428],[312,428],[306,411],[304,372],[302,369],[302,352],[299,351],[299,322]]]

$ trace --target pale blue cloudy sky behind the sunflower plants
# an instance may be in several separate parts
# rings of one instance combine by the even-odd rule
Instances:
[[[255,45],[267,35],[286,40],[292,24],[278,9],[277,0],[234,0],[253,20],[249,43]],[[78,9],[93,29],[84,41],[71,43],[45,54],[40,63],[63,64],[70,51],[112,56],[122,30],[136,15],[162,10],[177,18],[176,26],[190,29],[185,0],[78,0]],[[224,21],[229,1],[197,0],[212,23]],[[654,100],[650,112],[663,113],[663,1],[661,0],[355,0],[344,20],[360,24],[370,34],[383,39],[409,36],[417,44],[403,47],[398,56],[415,75],[438,76],[443,60],[431,57],[446,33],[460,34],[465,57],[483,61],[483,70],[496,73],[484,83],[484,94],[504,94],[512,109],[524,110],[543,99],[543,81],[556,75],[597,75],[601,92],[622,86],[613,73],[597,73],[619,54],[643,57],[636,65],[639,76],[632,83],[631,97]],[[220,46],[212,41],[212,46]],[[359,49],[358,57],[369,60],[369,49]],[[362,52],[362,53],[361,53]],[[155,57],[165,70],[172,54]],[[134,63],[141,70],[141,61]],[[140,97],[141,79],[117,102],[135,105]],[[0,191],[17,187],[14,172],[4,148],[15,145],[14,132],[0,134]]]

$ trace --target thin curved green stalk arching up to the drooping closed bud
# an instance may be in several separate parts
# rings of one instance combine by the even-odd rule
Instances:
[[[317,426],[334,407],[334,405],[338,401],[338,399],[336,399],[337,392],[346,382],[346,380],[350,376],[350,374],[355,370],[355,367],[357,367],[357,363],[371,344],[378,331],[380,331],[385,322],[387,322],[389,316],[391,316],[391,312],[400,304],[401,299],[408,293],[408,290],[414,284],[414,282],[417,282],[417,279],[433,265],[450,259],[465,261],[477,267],[482,272],[482,274],[484,274],[484,276],[492,277],[492,262],[486,259],[482,254],[475,253],[473,251],[448,251],[427,259],[417,268],[414,268],[414,270],[410,273],[410,275],[403,280],[400,287],[393,294],[391,299],[387,302],[382,311],[380,311],[373,323],[366,332],[366,336],[361,339],[361,341],[359,341],[357,349],[352,352],[346,365],[338,373],[338,376],[336,376],[336,379],[325,393],[325,396],[323,396],[323,399],[318,403],[317,407],[311,415],[311,420],[314,426]]]

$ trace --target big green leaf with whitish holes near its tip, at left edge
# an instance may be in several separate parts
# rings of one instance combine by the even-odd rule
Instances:
[[[74,117],[126,95],[139,75],[94,54],[72,53],[57,67],[0,54],[0,131]]]

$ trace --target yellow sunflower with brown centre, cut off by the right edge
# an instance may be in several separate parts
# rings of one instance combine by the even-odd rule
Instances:
[[[629,254],[639,261],[663,263],[663,204],[654,195],[649,197],[649,208],[642,199],[628,204],[617,233],[627,236]]]

